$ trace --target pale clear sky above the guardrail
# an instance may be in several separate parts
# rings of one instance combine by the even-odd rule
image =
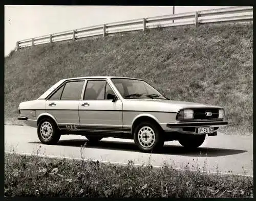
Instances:
[[[175,14],[225,8],[175,6]],[[173,14],[173,6],[15,6],[5,5],[5,56],[28,38],[116,21]]]

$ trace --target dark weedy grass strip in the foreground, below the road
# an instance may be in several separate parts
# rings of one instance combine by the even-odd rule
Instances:
[[[5,154],[5,196],[253,197],[239,175]]]

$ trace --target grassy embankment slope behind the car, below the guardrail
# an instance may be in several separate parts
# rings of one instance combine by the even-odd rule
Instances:
[[[127,76],[171,99],[223,106],[230,131],[252,132],[252,30],[177,27],[22,49],[5,58],[5,117],[60,79]]]

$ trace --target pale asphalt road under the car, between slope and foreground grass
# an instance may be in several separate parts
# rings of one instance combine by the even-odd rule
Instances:
[[[133,140],[103,138],[97,145],[87,143],[78,135],[61,136],[57,145],[41,144],[36,129],[27,126],[5,125],[5,152],[39,154],[45,156],[92,159],[127,164],[148,164],[202,171],[253,175],[252,136],[224,135],[208,137],[199,148],[185,150],[178,141],[165,142],[161,154],[139,152]]]

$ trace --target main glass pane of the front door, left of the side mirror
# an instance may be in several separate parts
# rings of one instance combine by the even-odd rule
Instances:
[[[88,81],[86,85],[86,92],[84,93],[84,100],[104,100],[106,81],[92,80]]]

